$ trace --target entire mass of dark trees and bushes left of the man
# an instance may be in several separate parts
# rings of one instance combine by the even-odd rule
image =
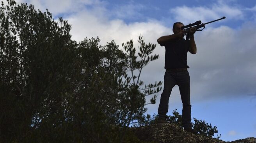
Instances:
[[[132,40],[123,44],[125,53],[114,41],[77,43],[61,17],[55,22],[47,9],[7,2],[0,8],[0,140],[137,140],[127,129],[155,103],[156,95],[150,103],[145,96],[161,90],[162,82],[142,88],[140,80],[142,68],[158,59],[151,56],[155,45],[140,36],[136,54]]]

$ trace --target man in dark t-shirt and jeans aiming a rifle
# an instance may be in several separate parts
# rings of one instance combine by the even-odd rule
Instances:
[[[190,77],[187,66],[187,52],[196,54],[196,43],[194,40],[195,28],[190,28],[189,39],[185,40],[185,35],[181,26],[182,23],[173,24],[172,35],[163,36],[157,39],[158,44],[165,46],[165,75],[164,90],[161,94],[158,107],[158,123],[166,122],[166,113],[168,112],[169,97],[172,88],[178,85],[181,94],[182,122],[185,131],[196,134],[191,124],[191,105],[190,105]]]

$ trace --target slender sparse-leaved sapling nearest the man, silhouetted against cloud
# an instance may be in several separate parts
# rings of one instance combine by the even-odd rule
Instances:
[[[130,95],[130,101],[128,101],[128,105],[130,105],[130,110],[125,112],[128,114],[126,114],[126,118],[123,123],[124,127],[130,126],[131,123],[136,124],[136,121],[141,122],[141,120],[144,120],[144,117],[142,115],[147,110],[146,108],[144,108],[144,105],[155,104],[156,100],[156,95],[154,95],[153,98],[150,99],[150,103],[146,103],[145,96],[155,94],[162,89],[162,87],[160,87],[160,85],[162,85],[161,81],[158,83],[155,82],[155,84],[144,85],[144,88],[141,87],[144,84],[144,82],[140,80],[142,68],[148,65],[150,61],[158,59],[158,55],[151,55],[156,47],[155,44],[146,44],[142,39],[142,36],[139,36],[138,42],[140,43],[140,52],[138,52],[138,56],[140,57],[139,60],[137,60],[138,56],[136,56],[136,49],[133,47],[132,40],[130,40],[130,42],[126,42],[126,44],[122,44],[124,50],[127,52],[126,63],[132,75],[132,77],[128,77],[127,73],[125,73],[125,80],[123,82],[121,82],[122,80],[119,79],[119,84],[122,88],[128,87],[128,92],[126,92],[125,94]],[[137,76],[135,75],[135,70],[138,70],[139,72]],[[124,131],[124,133],[126,133],[126,130]]]

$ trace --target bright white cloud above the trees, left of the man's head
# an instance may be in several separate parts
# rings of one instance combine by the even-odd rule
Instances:
[[[104,9],[98,9],[97,14],[92,10],[84,10],[67,17],[69,23],[72,24],[72,39],[80,41],[86,36],[88,38],[99,36],[102,45],[113,39],[119,45],[133,39],[137,46],[139,35],[144,36],[147,42],[156,43],[157,37],[160,37],[162,33],[167,35],[171,32],[171,29],[165,28],[157,21],[126,24],[121,19],[110,20],[104,12],[100,12],[101,10]]]

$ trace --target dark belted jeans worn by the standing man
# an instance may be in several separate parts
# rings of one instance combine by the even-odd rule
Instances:
[[[172,72],[166,70],[164,74],[164,91],[161,94],[158,107],[158,118],[166,119],[168,103],[172,88],[178,85],[180,89],[183,127],[191,127],[191,105],[190,105],[190,77],[188,71]]]

